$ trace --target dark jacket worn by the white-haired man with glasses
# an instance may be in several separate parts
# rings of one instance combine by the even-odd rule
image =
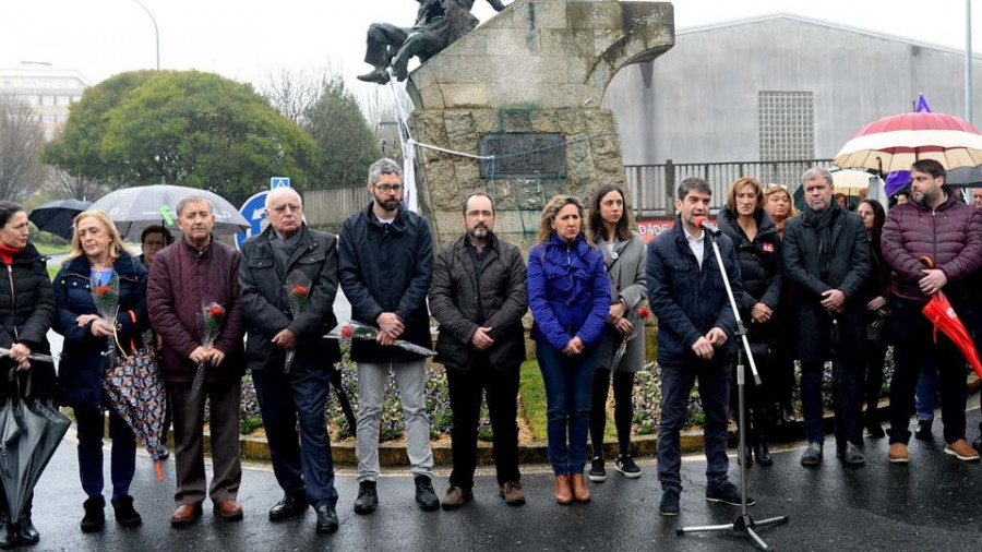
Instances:
[[[297,335],[299,345],[295,365],[330,369],[340,360],[337,340],[322,336],[337,325],[334,298],[337,296],[337,238],[310,230],[302,225],[300,241],[290,255],[286,271],[276,268],[270,243],[273,227],[242,243],[239,286],[246,319],[246,365],[252,370],[283,371],[286,349],[271,339],[284,328]],[[286,295],[286,278],[294,271],[310,277],[307,307],[294,317]]]

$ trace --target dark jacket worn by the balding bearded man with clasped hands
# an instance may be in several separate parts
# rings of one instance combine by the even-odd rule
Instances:
[[[475,349],[470,339],[478,327],[491,328],[494,345],[488,356],[492,367],[513,368],[525,360],[525,261],[518,248],[491,236],[480,277],[476,277],[466,236],[440,250],[433,264],[430,311],[440,323],[434,361],[450,368],[471,368]]]

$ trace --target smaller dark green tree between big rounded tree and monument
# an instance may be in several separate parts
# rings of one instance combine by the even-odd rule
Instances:
[[[381,151],[358,100],[340,75],[324,79],[320,96],[307,108],[302,120],[321,154],[312,184],[363,183],[369,166]]]

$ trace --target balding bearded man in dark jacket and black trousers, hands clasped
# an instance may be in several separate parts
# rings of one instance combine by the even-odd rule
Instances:
[[[454,469],[443,509],[474,500],[477,429],[481,400],[494,441],[499,494],[525,504],[518,473],[518,374],[525,360],[522,316],[528,308],[525,261],[515,245],[494,232],[491,196],[477,191],[464,200],[467,233],[443,248],[433,265],[430,307],[440,322],[435,361],[446,367],[454,425]]]

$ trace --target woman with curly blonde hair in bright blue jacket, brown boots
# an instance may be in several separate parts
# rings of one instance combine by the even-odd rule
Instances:
[[[528,304],[546,383],[549,461],[560,504],[589,502],[584,477],[590,388],[610,312],[603,255],[584,233],[583,203],[558,195],[528,252]]]

